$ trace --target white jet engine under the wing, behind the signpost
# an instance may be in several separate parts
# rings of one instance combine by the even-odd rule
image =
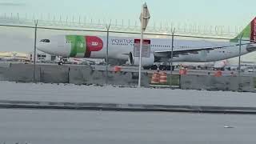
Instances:
[[[134,58],[134,54],[129,54],[128,62],[130,65],[138,66],[139,65],[139,57]],[[150,58],[142,58],[142,66],[152,66],[154,65],[154,54],[150,54]]]

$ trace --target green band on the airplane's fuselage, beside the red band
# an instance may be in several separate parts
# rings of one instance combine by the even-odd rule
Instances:
[[[85,37],[81,35],[66,35],[66,40],[71,42],[70,57],[86,53]]]

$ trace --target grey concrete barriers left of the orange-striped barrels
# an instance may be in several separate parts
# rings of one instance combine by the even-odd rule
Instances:
[[[93,70],[90,66],[36,66],[36,82],[74,83],[74,84],[106,84],[106,71]],[[0,80],[14,82],[33,82],[34,66],[12,64],[0,67]],[[142,86],[149,86],[150,75],[142,73]],[[116,86],[137,86],[138,73],[108,72],[108,84]]]

